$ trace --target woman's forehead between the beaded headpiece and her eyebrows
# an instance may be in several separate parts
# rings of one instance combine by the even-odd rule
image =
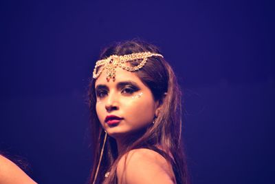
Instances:
[[[123,70],[122,68],[115,68],[115,81],[113,81],[113,79],[107,81],[106,70],[103,70],[100,76],[98,76],[98,79],[96,79],[95,84],[111,85],[112,83],[118,83],[120,81],[134,81],[139,85],[143,85],[142,81],[135,73],[136,72],[129,72],[127,70]]]

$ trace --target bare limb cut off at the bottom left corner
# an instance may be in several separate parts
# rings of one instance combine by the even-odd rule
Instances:
[[[0,154],[0,183],[35,183],[23,170]]]

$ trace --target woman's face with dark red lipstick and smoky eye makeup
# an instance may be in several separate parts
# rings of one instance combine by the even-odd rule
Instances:
[[[153,122],[158,102],[134,74],[116,68],[115,81],[105,71],[96,79],[96,113],[104,130],[113,138],[138,132]]]

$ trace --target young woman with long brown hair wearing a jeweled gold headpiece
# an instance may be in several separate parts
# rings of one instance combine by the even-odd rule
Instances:
[[[181,92],[151,44],[103,50],[89,84],[94,136],[91,183],[188,183],[181,147]]]

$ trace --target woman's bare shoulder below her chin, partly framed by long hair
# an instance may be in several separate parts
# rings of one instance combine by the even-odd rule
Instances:
[[[118,183],[175,183],[173,169],[159,153],[146,148],[122,156],[117,168]]]

